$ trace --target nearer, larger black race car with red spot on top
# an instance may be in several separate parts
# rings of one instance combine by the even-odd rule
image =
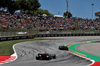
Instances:
[[[51,59],[56,59],[56,55],[55,54],[48,54],[48,53],[38,53],[38,55],[36,56],[36,60],[51,60]]]

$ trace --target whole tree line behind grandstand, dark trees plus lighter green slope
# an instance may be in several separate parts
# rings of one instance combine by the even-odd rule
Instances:
[[[7,8],[7,12],[11,14],[21,10],[21,13],[52,15],[48,10],[39,9],[40,6],[38,0],[0,0],[0,8]]]

